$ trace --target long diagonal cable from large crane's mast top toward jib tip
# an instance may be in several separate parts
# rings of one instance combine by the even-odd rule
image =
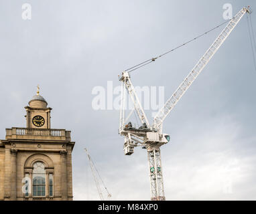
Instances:
[[[234,17],[232,19],[234,19]],[[229,21],[231,21],[231,19],[228,19],[227,21],[224,21],[223,23],[220,23],[219,25],[216,25],[216,27],[213,27],[212,29],[210,29],[210,30],[208,30],[208,31],[198,35],[197,37],[194,37],[193,39],[190,39],[190,40],[186,41],[185,43],[182,43],[181,45],[178,45],[174,49],[170,49],[169,51],[166,51],[164,54],[161,54],[161,55],[159,55],[159,56],[157,56],[155,58],[151,58],[149,60],[145,60],[144,62],[141,62],[140,64],[137,64],[136,66],[128,68],[127,70],[125,70],[125,72],[130,73],[130,72],[133,72],[133,71],[135,71],[135,70],[137,70],[137,69],[139,69],[139,68],[141,68],[143,66],[146,66],[147,64],[150,64],[151,62],[155,62],[155,60],[157,60],[158,58],[161,58],[162,56],[165,56],[166,54],[169,54],[170,52],[175,51],[176,49],[178,49],[178,48],[180,48],[180,47],[182,47],[184,45],[187,45],[188,43],[190,43],[192,41],[195,41],[196,39],[202,37],[203,35],[206,35],[207,33],[210,33],[210,31],[213,31],[214,29],[217,29],[218,27],[220,27],[222,25],[225,25],[225,23],[228,23]]]

